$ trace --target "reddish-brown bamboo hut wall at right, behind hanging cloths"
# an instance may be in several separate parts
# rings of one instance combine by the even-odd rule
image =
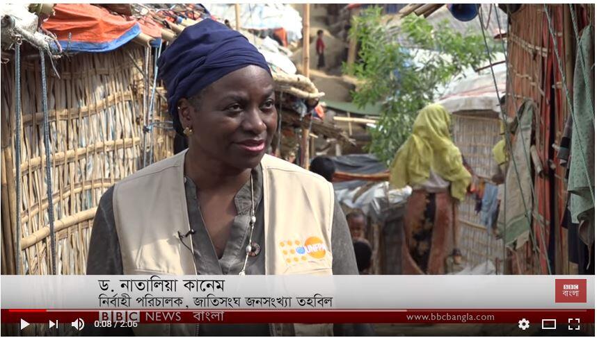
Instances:
[[[595,26],[594,4],[502,5],[509,14],[509,81],[507,110],[516,114],[523,100],[532,100],[537,110],[533,142],[543,164],[543,173],[534,175],[532,235],[534,241],[511,252],[514,273],[578,273],[568,256],[568,229],[561,226],[566,210],[566,168],[559,163],[557,149],[571,115],[568,96],[573,82],[578,35]],[[589,69],[587,69],[589,72]],[[582,121],[585,123],[585,121]]]

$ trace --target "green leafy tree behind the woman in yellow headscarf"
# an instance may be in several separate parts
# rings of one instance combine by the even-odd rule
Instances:
[[[352,93],[357,105],[383,101],[367,150],[388,164],[410,135],[417,111],[433,101],[438,87],[488,60],[480,32],[462,35],[448,28],[447,21],[434,29],[422,17],[404,17],[399,32],[408,46],[401,46],[396,36],[388,33],[389,28],[379,7],[367,8],[354,17],[350,35],[360,45],[359,60],[344,65],[344,72],[362,83]],[[494,46],[490,45],[492,51]],[[417,51],[413,48],[429,51],[430,57],[420,58],[422,65],[415,65]]]

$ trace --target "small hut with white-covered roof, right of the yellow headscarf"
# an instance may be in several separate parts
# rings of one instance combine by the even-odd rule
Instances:
[[[499,94],[506,84],[504,67],[496,69]],[[479,181],[490,181],[493,167],[492,149],[500,140],[500,101],[493,85],[493,75],[472,74],[452,83],[447,94],[439,101],[452,115],[452,137],[460,149],[465,162]],[[459,248],[465,262],[471,266],[491,261],[504,260],[504,245],[501,239],[481,222],[481,214],[475,210],[475,194],[467,194],[459,204]]]

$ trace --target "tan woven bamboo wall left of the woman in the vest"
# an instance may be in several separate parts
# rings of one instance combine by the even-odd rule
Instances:
[[[102,194],[142,165],[143,97],[148,96],[148,85],[134,64],[143,69],[147,51],[127,44],[109,53],[63,57],[55,61],[60,78],[46,62],[56,271],[60,274],[85,273],[90,229]],[[8,194],[2,194],[3,244],[15,244],[13,67],[13,62],[2,65],[1,78],[1,124],[6,126],[3,134],[8,132],[2,137],[3,188],[8,188]],[[21,67],[21,273],[47,274],[51,273],[51,260],[40,60],[22,58]],[[161,109],[163,99],[158,96],[156,100],[159,121],[167,112]],[[172,134],[154,129],[153,137],[154,160],[171,155]],[[10,210],[5,212],[5,205]],[[15,264],[13,248],[3,252],[8,255],[3,273],[14,273],[10,269],[10,259]]]

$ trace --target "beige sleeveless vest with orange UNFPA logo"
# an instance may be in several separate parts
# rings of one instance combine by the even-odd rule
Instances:
[[[113,212],[125,274],[197,274],[193,255],[178,237],[190,230],[184,191],[186,151],[117,183]],[[261,161],[265,273],[332,274],[333,187],[319,175],[270,155]],[[188,242],[187,242],[188,244]],[[287,249],[303,246],[304,254]],[[191,242],[191,248],[193,243]],[[272,325],[282,335],[282,325]],[[136,335],[194,335],[193,324],[144,325]],[[328,324],[295,324],[296,335],[333,335]]]

